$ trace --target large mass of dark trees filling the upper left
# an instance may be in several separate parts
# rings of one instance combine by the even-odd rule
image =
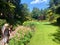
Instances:
[[[29,15],[27,4],[21,4],[20,0],[0,0],[0,17],[10,24],[16,24],[18,21],[23,23]],[[2,14],[2,15],[1,15]],[[16,21],[16,23],[15,23]]]

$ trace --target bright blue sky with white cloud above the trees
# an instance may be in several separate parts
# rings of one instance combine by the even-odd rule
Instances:
[[[39,9],[47,9],[49,7],[49,0],[21,0],[21,3],[28,4],[30,11],[32,11],[33,7]]]

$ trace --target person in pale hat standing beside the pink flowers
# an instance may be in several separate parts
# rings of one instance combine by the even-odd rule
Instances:
[[[9,36],[10,33],[12,32],[12,25],[9,25],[8,23],[4,24],[2,29],[2,42],[3,45],[9,42]]]

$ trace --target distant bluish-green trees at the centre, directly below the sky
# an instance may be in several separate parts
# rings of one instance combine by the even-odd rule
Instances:
[[[34,7],[31,13],[31,17],[37,20],[45,20],[47,14],[46,11],[47,9],[40,10],[39,8]]]

